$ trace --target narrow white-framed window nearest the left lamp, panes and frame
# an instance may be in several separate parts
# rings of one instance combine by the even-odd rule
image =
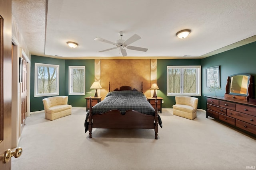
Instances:
[[[68,66],[68,94],[85,95],[85,66]]]

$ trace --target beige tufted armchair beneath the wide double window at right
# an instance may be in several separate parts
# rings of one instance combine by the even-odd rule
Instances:
[[[193,120],[196,118],[198,98],[191,96],[175,96],[176,104],[172,106],[173,114]]]

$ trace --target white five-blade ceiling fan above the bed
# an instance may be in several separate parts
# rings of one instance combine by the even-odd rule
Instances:
[[[110,49],[106,49],[106,50],[102,50],[99,52],[104,52],[104,51],[109,51],[109,50],[113,50],[113,49],[117,49],[119,48],[119,50],[121,51],[123,56],[127,56],[126,50],[125,48],[129,49],[129,50],[137,50],[137,51],[148,51],[148,49],[146,48],[142,48],[142,47],[135,47],[135,46],[130,46],[129,44],[139,40],[141,37],[137,34],[132,35],[132,37],[130,37],[127,40],[122,39],[122,36],[124,35],[124,32],[120,31],[119,32],[120,35],[120,39],[116,40],[116,43],[113,43],[111,41],[108,41],[106,39],[100,38],[100,37],[96,37],[94,40],[96,41],[102,41],[104,43],[109,43],[109,44],[113,44],[116,47],[110,48]],[[128,46],[129,45],[129,46]]]

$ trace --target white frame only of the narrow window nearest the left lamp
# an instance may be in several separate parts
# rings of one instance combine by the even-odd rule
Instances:
[[[84,92],[72,92],[72,69],[77,68],[77,69],[83,69],[84,70]],[[68,66],[68,95],[85,95],[85,66]]]

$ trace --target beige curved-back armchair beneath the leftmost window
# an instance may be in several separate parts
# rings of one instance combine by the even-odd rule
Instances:
[[[58,119],[71,114],[72,106],[68,104],[68,96],[54,96],[43,99],[45,118]]]

